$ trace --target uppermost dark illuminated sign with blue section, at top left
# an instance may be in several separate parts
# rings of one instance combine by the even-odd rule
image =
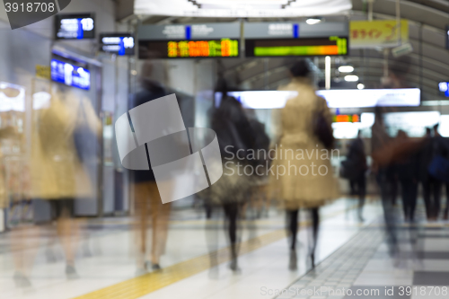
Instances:
[[[94,20],[93,13],[57,14],[55,16],[55,39],[94,39]]]

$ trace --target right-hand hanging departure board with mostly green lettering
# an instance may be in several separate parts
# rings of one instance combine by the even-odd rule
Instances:
[[[248,22],[246,57],[348,55],[348,22]]]

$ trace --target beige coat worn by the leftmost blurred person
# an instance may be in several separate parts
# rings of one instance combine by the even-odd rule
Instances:
[[[48,109],[35,111],[31,135],[31,198],[92,198],[94,195],[73,139],[80,101],[88,105],[84,99],[61,101],[59,96],[53,96]],[[96,123],[92,129],[97,131],[101,123],[98,119],[90,121],[92,113],[86,114],[88,123]]]

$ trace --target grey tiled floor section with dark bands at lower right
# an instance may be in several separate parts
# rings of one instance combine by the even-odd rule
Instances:
[[[398,221],[400,250],[391,256],[378,220],[277,298],[448,298],[448,229]]]

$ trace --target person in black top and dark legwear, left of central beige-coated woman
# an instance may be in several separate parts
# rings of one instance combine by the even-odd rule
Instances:
[[[252,168],[248,150],[254,147],[255,135],[242,105],[233,97],[225,97],[212,116],[212,129],[216,131],[220,152],[224,163],[224,174],[209,189],[202,193],[213,205],[223,207],[225,230],[230,242],[233,271],[238,270],[237,228],[242,205],[249,200],[252,176],[246,173]],[[209,240],[210,242],[210,240]],[[213,253],[213,252],[211,252]],[[216,266],[216,260],[211,258]]]

